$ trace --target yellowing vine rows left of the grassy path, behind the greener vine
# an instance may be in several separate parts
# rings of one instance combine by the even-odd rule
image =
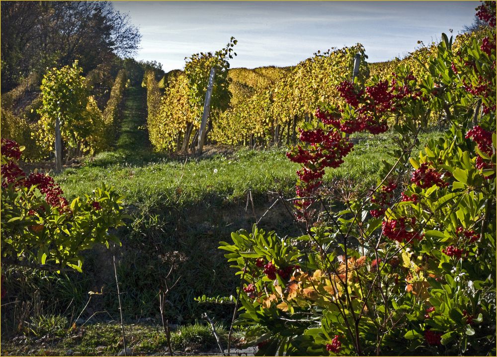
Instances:
[[[71,67],[66,66],[61,70],[52,69],[47,75],[55,71],[67,72]],[[120,104],[123,102],[124,89],[126,87],[126,71],[120,70],[110,88],[109,99],[104,102],[103,112],[100,110],[97,100],[105,99],[102,93],[105,91],[108,78],[102,75],[99,69],[90,71],[86,77],[81,75],[81,69],[74,74],[74,80],[78,80],[78,87],[84,93],[82,103],[78,112],[72,113],[72,119],[80,118],[77,126],[69,125],[72,120],[66,121],[67,133],[80,133],[81,143],[69,143],[68,138],[63,138],[66,149],[73,149],[71,155],[83,153],[94,154],[109,148],[115,138],[116,121],[119,116]],[[25,146],[25,160],[36,161],[49,157],[53,151],[55,141],[54,124],[46,116],[48,102],[44,102],[44,96],[40,93],[40,78],[32,73],[20,84],[5,93],[1,97],[1,128],[2,137],[11,139]],[[95,86],[97,87],[95,89]],[[73,88],[75,89],[75,88]],[[97,94],[97,95],[95,95]],[[83,140],[84,138],[84,140]],[[69,155],[67,156],[70,157]]]

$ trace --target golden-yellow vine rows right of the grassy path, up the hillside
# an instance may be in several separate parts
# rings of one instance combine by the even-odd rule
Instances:
[[[485,36],[485,30],[458,35],[454,49]],[[336,87],[351,79],[346,73],[352,72],[356,54],[361,55],[359,83],[374,76],[391,80],[395,69],[402,66],[418,77],[426,72],[423,64],[436,54],[436,45],[421,43],[404,59],[377,64],[366,62],[365,49],[357,44],[315,53],[293,68],[232,69],[228,73],[230,103],[226,110],[211,111],[209,140],[230,145],[295,142],[297,129],[314,119],[313,113],[320,104],[343,104]],[[198,108],[193,110],[185,99],[191,89],[185,73],[174,71],[171,74],[166,74],[160,81],[146,74],[144,85],[153,95],[149,100],[148,128],[157,150],[185,151],[189,143],[180,142],[180,139],[191,130],[189,126],[198,129],[201,112]],[[208,71],[205,71],[204,76],[207,75]],[[202,89],[205,93],[206,88]],[[444,119],[442,111],[434,111],[429,122],[435,125]]]

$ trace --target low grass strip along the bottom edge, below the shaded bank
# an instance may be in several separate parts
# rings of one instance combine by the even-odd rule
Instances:
[[[13,356],[65,356],[73,353],[78,356],[116,356],[123,350],[121,325],[97,323],[77,327],[62,326],[64,333],[46,333],[44,336],[25,336],[22,343],[2,343],[2,354]],[[216,333],[221,344],[227,347],[228,331],[216,324]],[[126,347],[133,356],[156,354],[168,355],[167,339],[162,325],[127,324],[125,326]],[[234,339],[239,336],[235,333]],[[41,337],[41,338],[40,338]],[[232,344],[233,346],[233,344]],[[171,347],[175,354],[189,352],[218,351],[216,339],[210,326],[201,323],[180,326],[171,332]]]

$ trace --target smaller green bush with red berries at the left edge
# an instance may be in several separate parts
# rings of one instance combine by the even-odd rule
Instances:
[[[81,272],[81,252],[117,244],[108,233],[122,225],[121,197],[105,184],[69,203],[54,179],[17,166],[21,147],[1,140],[1,263]]]

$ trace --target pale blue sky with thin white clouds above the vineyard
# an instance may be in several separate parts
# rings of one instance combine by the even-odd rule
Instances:
[[[223,48],[231,68],[294,66],[318,50],[361,43],[388,61],[473,23],[479,1],[112,1],[142,34],[137,60],[183,69],[184,58]]]

